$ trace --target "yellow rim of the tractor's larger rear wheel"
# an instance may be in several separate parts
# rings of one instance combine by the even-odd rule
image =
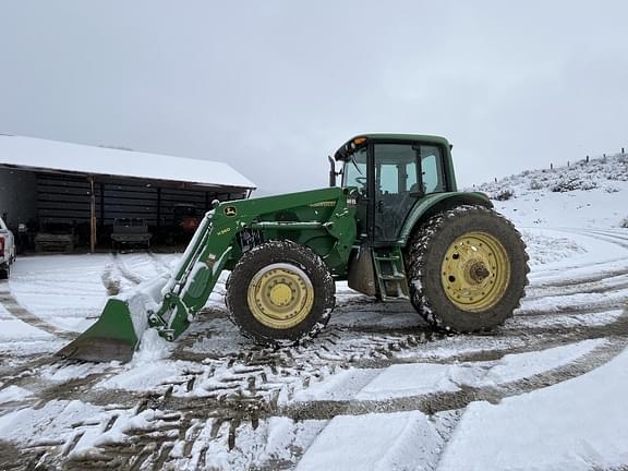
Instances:
[[[449,301],[467,312],[494,306],[510,282],[510,259],[502,242],[486,232],[467,232],[447,249],[440,281]]]

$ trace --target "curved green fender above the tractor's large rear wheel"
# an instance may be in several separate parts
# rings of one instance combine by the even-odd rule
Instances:
[[[462,205],[493,207],[493,203],[491,203],[488,196],[479,192],[448,192],[425,195],[414,204],[406,218],[406,222],[403,222],[403,227],[399,233],[399,243],[404,246],[414,228],[434,214]]]

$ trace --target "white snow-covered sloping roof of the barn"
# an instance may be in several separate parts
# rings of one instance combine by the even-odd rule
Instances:
[[[255,189],[224,162],[0,134],[0,166]]]

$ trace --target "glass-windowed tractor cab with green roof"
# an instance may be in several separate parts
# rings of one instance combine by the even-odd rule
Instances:
[[[396,244],[419,200],[456,191],[449,150],[443,137],[407,134],[362,135],[338,149],[335,158],[342,162],[342,186],[358,188],[362,242]]]

